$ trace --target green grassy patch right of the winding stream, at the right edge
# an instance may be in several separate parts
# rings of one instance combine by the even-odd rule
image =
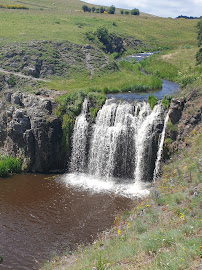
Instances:
[[[178,82],[181,87],[202,84],[202,65],[196,66],[196,52],[194,46],[181,46],[177,50],[155,54],[142,62],[143,69],[159,78]]]

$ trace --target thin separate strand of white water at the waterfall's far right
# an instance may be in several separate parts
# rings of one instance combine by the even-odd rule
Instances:
[[[157,153],[157,159],[156,159],[156,163],[155,163],[155,170],[154,170],[154,176],[153,176],[154,181],[158,178],[158,176],[160,174],[160,170],[161,170],[163,144],[164,144],[164,139],[165,139],[166,127],[167,127],[167,123],[169,120],[169,113],[170,113],[170,110],[168,111],[168,113],[165,117],[163,131],[162,131],[161,138],[160,138],[159,149],[158,149],[158,153]]]

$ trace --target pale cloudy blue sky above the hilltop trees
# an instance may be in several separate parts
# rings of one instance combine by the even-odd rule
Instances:
[[[85,0],[85,2],[117,8],[138,8],[140,12],[160,17],[175,18],[179,15],[202,16],[202,0]]]

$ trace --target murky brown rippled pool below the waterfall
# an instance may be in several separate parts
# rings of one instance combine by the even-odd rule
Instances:
[[[73,187],[71,179],[33,174],[0,179],[0,269],[38,269],[53,254],[90,242],[131,204],[111,192],[90,193],[81,183]]]

